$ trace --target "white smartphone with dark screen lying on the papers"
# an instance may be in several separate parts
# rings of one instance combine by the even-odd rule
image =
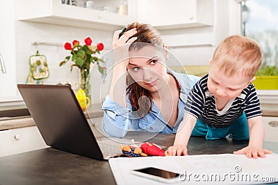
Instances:
[[[149,179],[154,179],[166,183],[181,182],[181,180],[179,179],[179,173],[173,173],[154,167],[131,170],[131,173],[133,173],[134,175],[139,175],[141,177],[147,177]]]

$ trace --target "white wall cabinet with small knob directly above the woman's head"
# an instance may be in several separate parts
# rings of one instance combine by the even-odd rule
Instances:
[[[213,26],[214,6],[213,0],[140,0],[138,19],[160,30]]]

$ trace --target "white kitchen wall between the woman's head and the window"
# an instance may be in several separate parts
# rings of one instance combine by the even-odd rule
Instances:
[[[208,65],[215,47],[229,35],[240,34],[240,6],[234,0],[215,0],[213,26],[162,30],[170,51],[183,65]],[[177,17],[179,19],[179,17]],[[213,46],[208,46],[212,44]],[[172,47],[172,45],[178,45]],[[173,66],[177,64],[172,64]]]

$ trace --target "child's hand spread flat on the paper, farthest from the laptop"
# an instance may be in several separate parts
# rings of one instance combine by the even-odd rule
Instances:
[[[265,158],[266,154],[272,154],[272,152],[270,150],[266,150],[266,149],[262,149],[262,148],[255,148],[252,146],[247,146],[243,149],[234,151],[234,154],[236,154],[236,155],[245,154],[248,158],[258,159],[258,157]]]

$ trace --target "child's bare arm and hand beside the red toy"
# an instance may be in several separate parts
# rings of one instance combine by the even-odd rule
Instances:
[[[168,155],[188,155],[187,144],[191,132],[196,125],[197,118],[191,114],[184,114],[183,121],[180,123],[177,130],[174,146],[167,149]]]

